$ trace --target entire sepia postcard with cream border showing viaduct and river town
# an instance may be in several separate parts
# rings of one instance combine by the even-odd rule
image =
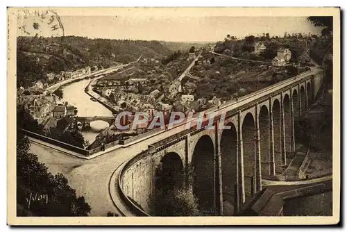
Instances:
[[[340,222],[339,8],[8,8],[8,224]]]

